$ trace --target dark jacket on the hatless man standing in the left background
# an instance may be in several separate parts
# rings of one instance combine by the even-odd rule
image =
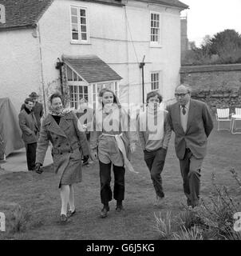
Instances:
[[[26,110],[23,109],[18,114],[18,122],[22,130],[22,140],[26,144],[37,142],[39,129],[34,113],[27,114]]]

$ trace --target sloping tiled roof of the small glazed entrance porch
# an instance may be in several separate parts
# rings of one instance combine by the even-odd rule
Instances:
[[[121,80],[109,65],[96,55],[62,56],[63,62],[72,67],[86,82],[104,82]]]

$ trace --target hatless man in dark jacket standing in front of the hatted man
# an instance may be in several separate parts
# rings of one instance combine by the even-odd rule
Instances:
[[[26,158],[28,170],[34,170],[36,149],[38,142],[38,123],[35,118],[34,101],[31,98],[26,98],[23,110],[18,114],[19,126],[22,130],[22,140],[26,146]]]

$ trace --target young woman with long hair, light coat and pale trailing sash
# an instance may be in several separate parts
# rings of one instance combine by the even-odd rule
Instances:
[[[128,151],[136,150],[136,132],[128,128],[128,114],[118,103],[112,90],[102,89],[99,93],[100,106],[94,115],[94,132],[91,134],[90,145],[93,154],[97,154],[101,180],[101,218],[107,217],[109,202],[112,197],[117,200],[117,212],[123,210],[124,172],[132,166],[128,161]],[[111,167],[114,173],[113,193],[110,186]]]

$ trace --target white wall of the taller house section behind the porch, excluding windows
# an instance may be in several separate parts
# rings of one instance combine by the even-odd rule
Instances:
[[[70,39],[70,6],[86,7],[89,14],[88,44]],[[150,10],[161,15],[161,46],[149,42]],[[164,98],[173,97],[179,83],[180,13],[177,9],[128,1],[128,6],[108,6],[93,2],[56,0],[39,22],[45,86],[56,86],[59,78],[54,65],[62,54],[96,54],[123,78],[121,102],[141,102],[141,70],[144,62],[145,94],[150,90],[151,71],[162,71]],[[128,87],[128,85],[130,85]],[[130,94],[130,95],[129,95]],[[135,97],[132,97],[135,95]]]

